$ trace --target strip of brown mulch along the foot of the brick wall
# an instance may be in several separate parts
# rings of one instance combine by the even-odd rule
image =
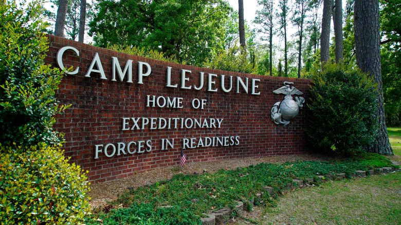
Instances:
[[[186,163],[182,169],[178,166],[156,168],[152,171],[133,174],[130,177],[117,179],[110,182],[94,183],[90,185],[89,204],[93,209],[104,207],[108,202],[116,200],[119,195],[128,189],[135,189],[139,186],[150,185],[160,180],[171,179],[175,174],[202,174],[214,173],[218,170],[233,170],[238,167],[256,165],[262,162],[283,163],[296,160],[329,160],[327,156],[316,154],[285,155],[263,158],[240,158],[223,161]]]

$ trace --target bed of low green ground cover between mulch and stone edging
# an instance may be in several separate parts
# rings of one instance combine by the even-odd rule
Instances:
[[[368,170],[377,165],[390,166],[391,162],[376,154],[362,154],[343,161],[261,163],[214,174],[176,175],[171,180],[126,192],[113,203],[126,207],[96,216],[104,224],[194,224],[200,222],[204,213],[233,208],[236,200],[253,198],[266,185],[281,193],[294,178],[305,180],[335,173],[350,177],[355,170]],[[268,201],[269,196],[264,195],[264,202]],[[87,221],[87,224],[96,223]]]

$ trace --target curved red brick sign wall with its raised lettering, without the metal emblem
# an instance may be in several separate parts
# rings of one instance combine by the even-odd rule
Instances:
[[[55,128],[65,134],[65,155],[90,171],[92,182],[178,165],[181,148],[187,163],[308,151],[307,109],[286,126],[270,119],[272,105],[284,97],[272,91],[294,82],[307,102],[308,80],[180,65],[49,39],[46,62],[77,69],[57,92],[71,107]],[[73,48],[60,51],[66,46]]]

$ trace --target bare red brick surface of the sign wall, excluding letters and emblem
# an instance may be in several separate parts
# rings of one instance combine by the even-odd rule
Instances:
[[[254,74],[228,72],[215,69],[199,68],[162,62],[135,55],[111,51],[81,44],[60,37],[49,35],[50,46],[46,62],[57,67],[56,53],[64,46],[73,46],[79,50],[79,57],[74,51],[67,50],[63,63],[77,66],[80,70],[75,75],[67,75],[57,92],[63,104],[71,104],[65,113],[58,116],[55,128],[65,133],[65,155],[71,161],[90,171],[92,182],[110,181],[129,176],[132,173],[151,170],[156,167],[177,165],[183,138],[239,136],[239,145],[198,147],[185,149],[187,163],[224,160],[242,157],[265,157],[275,155],[300,154],[308,151],[306,136],[303,131],[307,123],[307,109],[287,126],[278,126],[270,119],[270,109],[274,103],[282,101],[284,95],[272,93],[283,86],[283,81],[295,82],[294,86],[302,91],[308,101],[308,84],[305,79],[278,78]],[[107,80],[100,79],[99,73],[84,77],[95,53],[99,53]],[[112,80],[112,57],[117,57],[123,69],[127,60],[133,60],[133,83]],[[138,61],[149,63],[152,73],[143,78],[143,84],[137,83]],[[187,85],[199,84],[199,72],[205,72],[205,86],[202,90],[166,87],[167,67],[172,67],[172,83],[180,86],[181,69],[191,70]],[[217,92],[207,91],[208,73],[217,74],[215,85]],[[243,90],[222,91],[220,75],[260,79],[260,95],[250,95]],[[249,82],[250,83],[250,82]],[[229,83],[228,83],[229,84]],[[250,85],[250,84],[249,84]],[[249,88],[250,92],[250,88]],[[183,108],[147,107],[147,95],[183,98]],[[191,100],[206,99],[205,109],[194,109]],[[222,118],[221,128],[196,129],[150,129],[122,130],[122,118]],[[132,125],[132,124],[131,124]],[[161,150],[160,139],[175,139],[174,148]],[[121,154],[106,157],[103,153],[95,159],[95,145],[118,142],[151,140],[152,150],[144,153]],[[146,146],[146,145],[145,145]],[[109,152],[110,152],[109,148]],[[104,149],[103,149],[104,152]]]

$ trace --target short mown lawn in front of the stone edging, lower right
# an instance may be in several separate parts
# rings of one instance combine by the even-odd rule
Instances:
[[[400,224],[400,191],[401,173],[326,182],[285,195],[255,220],[258,224]]]

